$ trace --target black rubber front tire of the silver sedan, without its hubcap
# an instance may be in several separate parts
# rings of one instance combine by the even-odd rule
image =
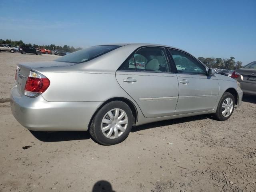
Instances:
[[[231,99],[232,99],[232,102],[233,102],[233,109],[232,109],[232,111],[230,112],[230,114],[225,117],[225,116],[222,115],[222,104],[223,104],[223,102],[226,100],[226,98],[231,98]],[[223,94],[223,96],[222,96],[222,98],[220,99],[220,102],[219,102],[219,104],[218,104],[217,111],[216,111],[216,113],[214,114],[214,118],[215,118],[216,120],[219,120],[219,121],[228,120],[228,118],[231,117],[231,115],[232,115],[232,113],[233,113],[233,111],[234,111],[234,108],[235,108],[235,98],[234,98],[234,96],[233,96],[231,93],[229,93],[229,92],[224,92],[224,94]]]

